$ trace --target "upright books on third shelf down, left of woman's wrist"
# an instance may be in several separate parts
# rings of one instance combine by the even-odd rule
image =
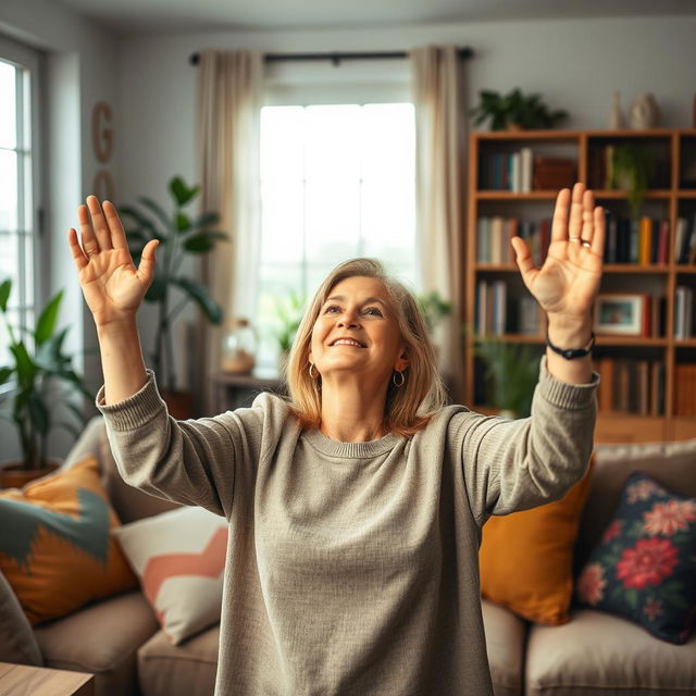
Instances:
[[[542,312],[531,295],[510,297],[505,281],[480,279],[474,308],[475,331],[478,336],[506,333],[538,336]]]

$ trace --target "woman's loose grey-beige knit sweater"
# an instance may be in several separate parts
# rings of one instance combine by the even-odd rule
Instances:
[[[543,357],[529,419],[451,406],[369,443],[303,432],[269,394],[175,421],[152,373],[97,405],[127,483],[229,522],[215,696],[487,696],[481,526],[583,475],[598,381]]]

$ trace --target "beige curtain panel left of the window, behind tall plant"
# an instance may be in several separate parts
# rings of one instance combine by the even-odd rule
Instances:
[[[212,414],[212,376],[220,369],[224,322],[253,320],[261,197],[259,137],[263,57],[258,51],[203,51],[198,65],[198,153],[201,210],[220,213],[221,243],[203,263],[203,282],[222,304],[221,327],[201,324],[199,412]]]

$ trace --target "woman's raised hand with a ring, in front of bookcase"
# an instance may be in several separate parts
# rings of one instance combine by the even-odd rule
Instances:
[[[570,209],[570,220],[569,220]],[[605,211],[594,203],[584,184],[559,191],[551,241],[540,269],[534,268],[524,240],[512,237],[522,279],[542,309],[564,322],[583,322],[591,314],[601,279]]]

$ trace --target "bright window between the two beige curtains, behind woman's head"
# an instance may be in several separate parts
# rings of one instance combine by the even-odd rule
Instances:
[[[415,288],[412,103],[273,105],[261,112],[257,326],[274,364],[277,306],[309,300],[346,259],[382,260]]]

